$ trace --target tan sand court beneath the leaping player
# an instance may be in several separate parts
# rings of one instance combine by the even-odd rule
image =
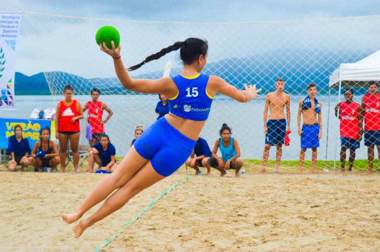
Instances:
[[[75,239],[60,215],[107,175],[1,172],[0,250],[93,250],[189,175],[183,169],[151,186]],[[378,175],[227,176],[213,172],[178,185],[104,249],[380,250]]]

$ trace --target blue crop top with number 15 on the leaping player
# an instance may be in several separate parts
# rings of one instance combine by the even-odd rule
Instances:
[[[177,75],[172,79],[177,85],[178,93],[173,98],[168,98],[169,112],[184,119],[206,121],[214,98],[206,91],[209,76]]]

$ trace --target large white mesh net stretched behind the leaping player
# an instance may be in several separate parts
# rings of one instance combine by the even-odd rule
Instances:
[[[24,13],[19,42],[24,45],[19,45],[18,61],[41,67],[56,102],[63,97],[65,84],[74,87],[75,98],[82,105],[91,99],[92,88],[100,89],[100,100],[114,112],[105,124],[105,131],[117,148],[117,156],[124,156],[129,149],[135,125],[142,124],[147,128],[155,122],[159,98],[157,94],[146,95],[122,87],[113,70],[112,60],[99,50],[95,42],[97,29],[104,25],[119,30],[121,53],[126,66],[141,62],[146,56],[175,41],[199,37],[209,43],[208,64],[203,73],[219,76],[238,89],[243,89],[245,83],[262,88],[262,97],[246,104],[216,95],[201,133],[212,149],[219,138],[220,127],[227,123],[239,142],[242,158],[253,160],[249,165],[254,169],[260,169],[262,163],[265,96],[276,90],[277,78],[285,80],[284,92],[291,97],[292,133],[289,135],[290,145],[282,149],[281,167],[294,171],[298,169],[298,103],[307,96],[308,84],[314,82],[318,90],[316,97],[322,103],[323,125],[317,168],[324,168],[324,161],[327,160],[327,166],[331,169],[331,162],[339,160],[340,149],[339,121],[333,110],[338,99],[344,100],[344,97],[339,97],[338,88],[329,88],[329,77],[340,64],[358,62],[380,49],[380,16],[294,22],[175,23]],[[28,57],[21,57],[24,55]],[[373,62],[370,63],[379,66],[380,58],[372,58]],[[181,61],[178,51],[149,62],[130,72],[130,75],[135,78],[161,78],[168,61],[172,61],[170,76],[179,74]],[[354,101],[359,104],[368,91],[366,84],[361,82],[354,88]],[[356,150],[354,169],[366,167],[367,164],[367,148],[363,141],[361,145]],[[275,152],[276,146],[273,146],[269,167],[274,167]],[[310,149],[307,150],[306,160],[305,166],[309,169]]]

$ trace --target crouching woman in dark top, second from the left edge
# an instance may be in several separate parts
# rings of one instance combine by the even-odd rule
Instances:
[[[60,163],[57,144],[49,140],[50,128],[45,127],[40,131],[41,140],[36,141],[31,152],[30,161],[34,167],[43,172],[44,167],[50,167],[54,171]]]

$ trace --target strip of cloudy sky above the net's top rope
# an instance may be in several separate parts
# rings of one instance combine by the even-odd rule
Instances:
[[[32,12],[183,22],[283,21],[380,14],[376,0],[0,0],[0,4]]]

